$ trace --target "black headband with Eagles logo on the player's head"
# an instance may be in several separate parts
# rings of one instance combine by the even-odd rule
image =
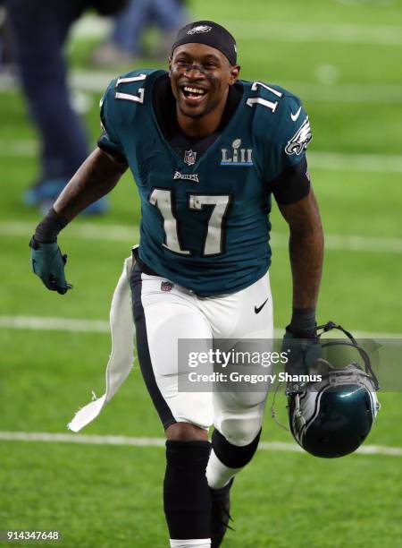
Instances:
[[[237,63],[236,40],[231,36],[229,30],[214,21],[195,21],[180,29],[172,46],[172,53],[176,47],[193,42],[215,47],[228,57],[230,64]]]

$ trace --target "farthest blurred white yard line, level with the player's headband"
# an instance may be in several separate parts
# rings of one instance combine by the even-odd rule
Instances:
[[[225,26],[238,40],[402,46],[402,28],[396,25],[248,20],[226,21]],[[72,36],[75,39],[99,39],[105,38],[109,30],[110,21],[88,15],[75,24]]]

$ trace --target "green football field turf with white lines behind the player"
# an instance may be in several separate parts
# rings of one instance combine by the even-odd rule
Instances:
[[[303,98],[327,235],[319,321],[402,338],[402,2],[191,5],[195,19],[219,21],[238,37],[243,78],[279,83]],[[95,143],[98,99],[114,74],[89,68],[100,37],[93,18],[83,22],[69,55]],[[144,66],[157,65],[144,60]],[[67,547],[163,548],[163,432],[138,364],[93,424],[80,434],[66,429],[91,390],[104,391],[110,299],[138,241],[135,185],[124,176],[105,218],[80,218],[66,228],[59,241],[74,289],[65,296],[47,292],[29,266],[29,237],[40,216],[21,204],[37,175],[38,136],[16,88],[0,85],[0,120],[0,530],[57,530]],[[287,228],[276,207],[272,225],[281,332],[289,321],[290,276]],[[263,431],[269,443],[236,480],[236,531],[223,545],[401,546],[402,398],[397,391],[379,398],[365,452],[334,460],[297,451],[289,432],[273,423],[270,401]],[[276,407],[286,422],[283,398]],[[67,437],[57,441],[55,434]]]

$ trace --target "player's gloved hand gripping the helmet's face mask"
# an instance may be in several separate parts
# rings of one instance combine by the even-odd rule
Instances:
[[[302,338],[292,333],[289,326],[286,328],[281,350],[288,355],[285,369],[291,375],[308,374],[310,367],[321,356],[321,345],[316,333]]]

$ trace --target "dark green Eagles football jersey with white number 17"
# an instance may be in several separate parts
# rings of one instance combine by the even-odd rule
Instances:
[[[126,158],[141,201],[139,257],[197,295],[239,291],[271,264],[270,182],[311,140],[300,100],[277,85],[241,81],[239,106],[200,158],[163,136],[153,86],[165,71],[112,81],[101,101],[99,146]]]

